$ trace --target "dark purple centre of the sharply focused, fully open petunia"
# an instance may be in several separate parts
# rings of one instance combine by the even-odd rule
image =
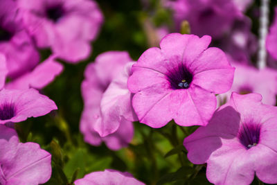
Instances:
[[[172,89],[188,89],[193,81],[193,74],[190,73],[184,64],[179,64],[178,67],[170,70],[166,76]]]

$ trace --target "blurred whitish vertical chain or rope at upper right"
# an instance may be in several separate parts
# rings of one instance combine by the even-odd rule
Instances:
[[[265,39],[267,38],[268,32],[270,0],[261,1],[262,4],[260,6],[258,69],[264,69],[267,65],[267,51],[265,49]]]

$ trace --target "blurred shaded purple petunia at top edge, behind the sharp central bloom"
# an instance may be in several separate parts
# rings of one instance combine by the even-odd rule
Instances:
[[[198,36],[221,37],[242,16],[230,0],[177,0],[167,5],[173,10],[177,28],[187,20],[191,33]]]

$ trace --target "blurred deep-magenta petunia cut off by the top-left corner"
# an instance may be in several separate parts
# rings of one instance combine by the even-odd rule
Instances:
[[[33,69],[39,62],[39,53],[24,30],[21,13],[12,0],[0,1],[0,52],[6,55],[10,78]]]

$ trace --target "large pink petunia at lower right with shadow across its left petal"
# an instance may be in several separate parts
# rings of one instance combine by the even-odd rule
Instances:
[[[211,183],[251,184],[254,175],[277,183],[277,108],[261,100],[260,94],[233,93],[206,127],[184,139],[188,159],[207,163]]]

